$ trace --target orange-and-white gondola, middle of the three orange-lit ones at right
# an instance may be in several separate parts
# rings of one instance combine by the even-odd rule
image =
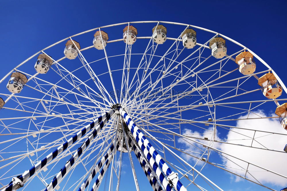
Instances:
[[[263,95],[268,99],[276,99],[282,94],[282,87],[273,73],[267,73],[259,78]]]

